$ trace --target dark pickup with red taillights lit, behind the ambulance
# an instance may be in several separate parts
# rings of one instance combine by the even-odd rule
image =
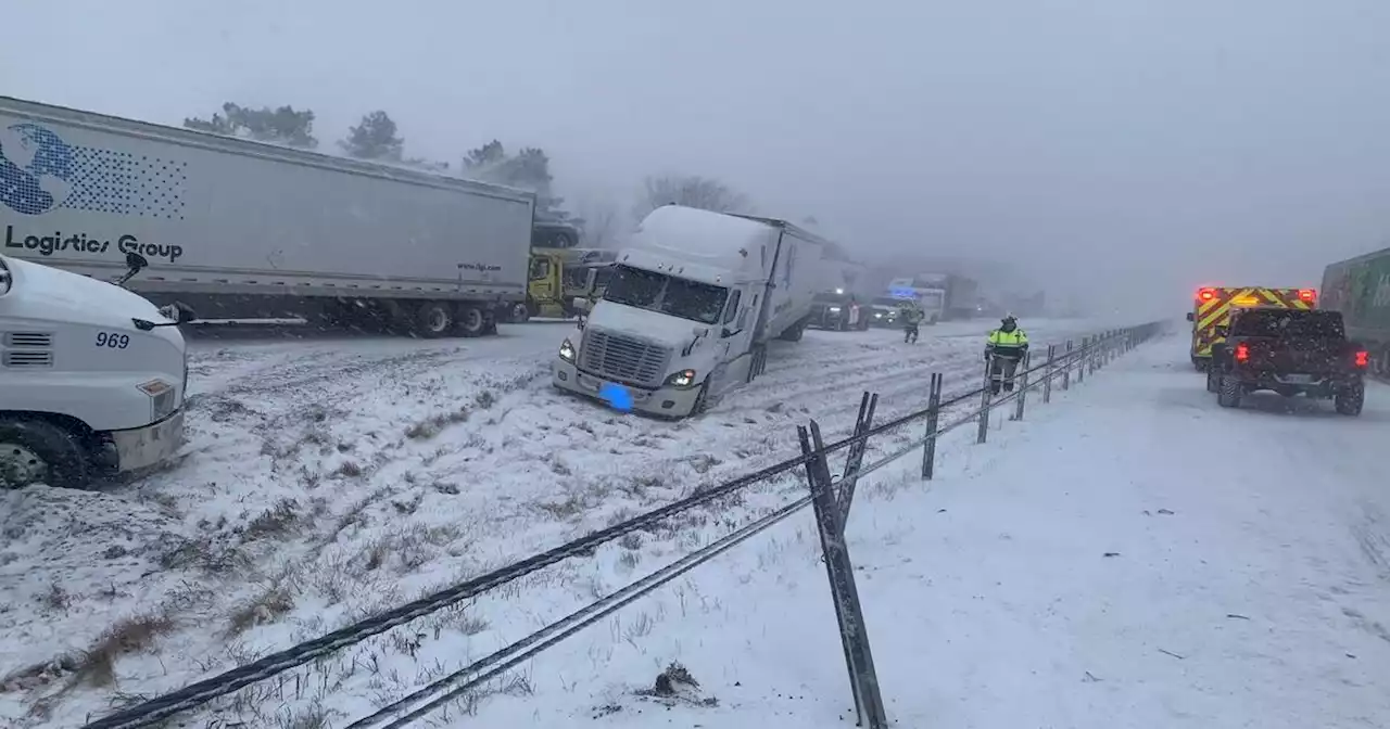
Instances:
[[[1240,407],[1245,393],[1273,390],[1330,399],[1337,412],[1361,414],[1369,354],[1347,340],[1340,312],[1241,308],[1216,333],[1226,340],[1212,346],[1207,390],[1222,407]]]

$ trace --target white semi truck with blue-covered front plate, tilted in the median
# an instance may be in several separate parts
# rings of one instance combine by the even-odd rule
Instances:
[[[773,339],[799,340],[826,282],[824,240],[785,221],[652,211],[552,365],[563,390],[681,418],[752,382]],[[616,403],[614,403],[616,404]]]

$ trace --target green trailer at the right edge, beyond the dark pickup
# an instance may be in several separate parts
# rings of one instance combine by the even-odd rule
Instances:
[[[1329,265],[1322,274],[1322,308],[1341,312],[1347,339],[1371,355],[1371,372],[1390,378],[1390,249]]]

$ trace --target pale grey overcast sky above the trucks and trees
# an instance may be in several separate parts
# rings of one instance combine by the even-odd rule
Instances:
[[[575,201],[717,176],[853,249],[1133,305],[1390,244],[1386,0],[6,6],[0,93],[164,124],[293,104],[325,147],[384,108],[413,156],[541,146]]]

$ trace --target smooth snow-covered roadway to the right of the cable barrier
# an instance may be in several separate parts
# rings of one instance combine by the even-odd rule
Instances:
[[[930,485],[905,458],[860,486],[849,548],[897,726],[1390,726],[1390,387],[1359,418],[1279,396],[1222,410],[1186,342],[984,446],[954,433]],[[847,726],[817,554],[792,518],[630,608],[623,625],[655,619],[641,640],[591,630],[474,721]],[[670,661],[699,690],[635,696]]]

